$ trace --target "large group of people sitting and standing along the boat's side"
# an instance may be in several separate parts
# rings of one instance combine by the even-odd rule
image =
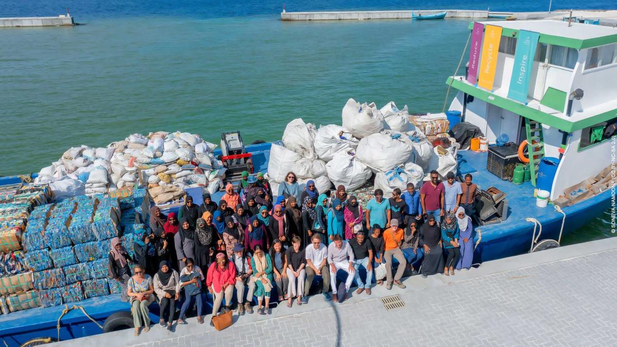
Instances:
[[[300,190],[293,172],[273,202],[263,175],[246,173],[240,192],[228,184],[218,204],[210,194],[199,206],[187,196],[178,217],[152,207],[151,231],[133,245],[135,259],[118,238],[111,241],[110,277],[120,283],[122,299],[131,302],[139,335],[142,327],[149,330],[147,307],[154,299],[160,325],[172,330],[181,297],[178,324],[186,324],[194,304],[197,322],[204,322],[205,291],[213,297],[215,315],[229,312],[233,301],[240,316],[252,314],[254,297],[257,313],[266,315],[271,299],[286,301],[288,307],[294,299],[297,305],[307,304],[316,278],[325,299],[337,302],[346,299],[354,281],[357,295],[371,295],[373,280],[383,285],[384,277],[387,290],[405,288],[405,270],[425,278],[454,275],[455,269],[471,267],[473,226],[462,206],[469,197],[463,198],[460,183],[452,181],[444,186],[431,179],[420,191],[410,183],[389,199],[378,189],[363,207],[342,185],[320,193],[309,181]],[[473,188],[474,194],[471,177],[466,181],[466,190]],[[455,193],[453,200],[448,191]],[[130,262],[136,264],[133,274]],[[337,272],[342,273],[338,286]]]

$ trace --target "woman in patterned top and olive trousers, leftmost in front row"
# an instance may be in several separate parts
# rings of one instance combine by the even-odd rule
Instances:
[[[133,277],[126,283],[126,295],[131,298],[131,314],[133,314],[133,324],[135,325],[135,336],[139,335],[139,330],[144,327],[144,333],[150,330],[150,311],[148,306],[154,301],[154,286],[152,277],[146,274],[146,269],[141,265],[135,265]]]

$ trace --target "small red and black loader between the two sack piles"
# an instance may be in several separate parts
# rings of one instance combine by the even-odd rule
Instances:
[[[246,170],[249,175],[253,173],[252,154],[246,153],[239,131],[222,133],[221,151],[223,154],[218,159],[223,162],[223,167],[227,169],[223,185],[231,183],[239,192],[242,189],[239,184],[242,179],[242,171]]]

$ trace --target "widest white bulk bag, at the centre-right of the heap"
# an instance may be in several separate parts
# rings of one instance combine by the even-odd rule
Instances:
[[[371,170],[386,172],[406,162],[412,152],[405,134],[384,130],[360,140],[355,156]]]

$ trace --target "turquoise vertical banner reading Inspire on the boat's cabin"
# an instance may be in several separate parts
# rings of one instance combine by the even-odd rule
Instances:
[[[512,67],[508,98],[523,102],[523,104],[527,103],[531,69],[534,66],[534,56],[536,56],[539,38],[539,33],[520,30],[518,41],[516,41],[516,52],[514,54],[514,66]]]

